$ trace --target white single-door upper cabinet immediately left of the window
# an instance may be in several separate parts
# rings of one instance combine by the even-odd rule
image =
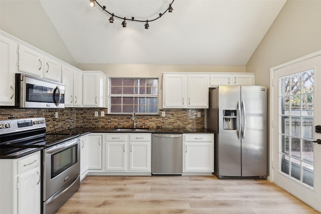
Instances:
[[[83,107],[105,107],[105,83],[101,71],[83,72]]]

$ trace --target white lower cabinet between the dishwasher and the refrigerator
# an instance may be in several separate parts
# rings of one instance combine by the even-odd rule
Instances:
[[[183,134],[183,175],[214,172],[214,134]]]

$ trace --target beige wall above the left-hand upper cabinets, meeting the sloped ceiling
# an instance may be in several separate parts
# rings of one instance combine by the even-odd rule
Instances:
[[[76,65],[39,1],[0,0],[0,29],[66,63]]]

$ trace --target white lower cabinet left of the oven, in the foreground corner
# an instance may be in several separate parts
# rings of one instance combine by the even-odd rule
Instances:
[[[0,160],[0,213],[41,213],[40,151]]]

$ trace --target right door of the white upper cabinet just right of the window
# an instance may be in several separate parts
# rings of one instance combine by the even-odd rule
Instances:
[[[208,108],[209,87],[207,75],[188,75],[188,100],[189,108]]]

